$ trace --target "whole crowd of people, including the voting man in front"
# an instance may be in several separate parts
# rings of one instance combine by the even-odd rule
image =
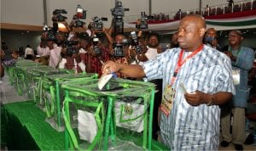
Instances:
[[[240,31],[230,31],[228,46],[221,47],[217,31],[207,29],[202,16],[189,15],[180,21],[166,51],[160,48],[160,36],[155,32],[138,31],[134,39],[131,35],[113,36],[111,26],[99,31],[88,28],[82,34],[49,34],[43,31],[36,54],[27,45],[26,59],[76,73],[101,76],[111,71],[121,78],[154,82],[158,93],[153,137],[167,148],[218,150],[221,131],[221,146],[234,143],[237,150],[243,149],[248,72],[255,52],[241,45]],[[127,39],[131,39],[128,44]],[[6,55],[3,51],[2,59]]]

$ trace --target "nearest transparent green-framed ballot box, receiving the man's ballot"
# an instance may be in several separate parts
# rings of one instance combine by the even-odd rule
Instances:
[[[154,84],[117,78],[99,90],[97,82],[67,81],[61,85],[66,92],[67,149],[150,149]],[[78,122],[76,129],[72,121]]]

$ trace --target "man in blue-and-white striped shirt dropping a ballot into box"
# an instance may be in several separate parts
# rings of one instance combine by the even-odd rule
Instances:
[[[218,150],[218,105],[235,93],[230,59],[203,45],[205,31],[201,16],[186,16],[178,26],[180,48],[168,49],[143,66],[108,61],[102,68],[105,74],[110,70],[146,80],[163,79],[160,134],[172,150]]]

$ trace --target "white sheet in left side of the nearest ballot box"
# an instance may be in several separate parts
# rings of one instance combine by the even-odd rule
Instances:
[[[79,137],[82,140],[92,142],[96,137],[97,125],[95,115],[78,109],[78,120],[79,120]]]

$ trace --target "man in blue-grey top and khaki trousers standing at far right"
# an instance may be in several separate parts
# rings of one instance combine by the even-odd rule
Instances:
[[[246,117],[247,98],[249,96],[248,73],[253,67],[254,51],[252,48],[241,46],[243,36],[241,31],[230,31],[228,36],[229,45],[224,47],[224,53],[230,57],[233,75],[237,77],[234,82],[236,95],[232,102],[222,109],[221,130],[223,142],[221,146],[227,147],[229,143],[235,144],[236,150],[243,150],[242,143],[246,140]],[[230,115],[233,114],[232,133],[230,133]]]

